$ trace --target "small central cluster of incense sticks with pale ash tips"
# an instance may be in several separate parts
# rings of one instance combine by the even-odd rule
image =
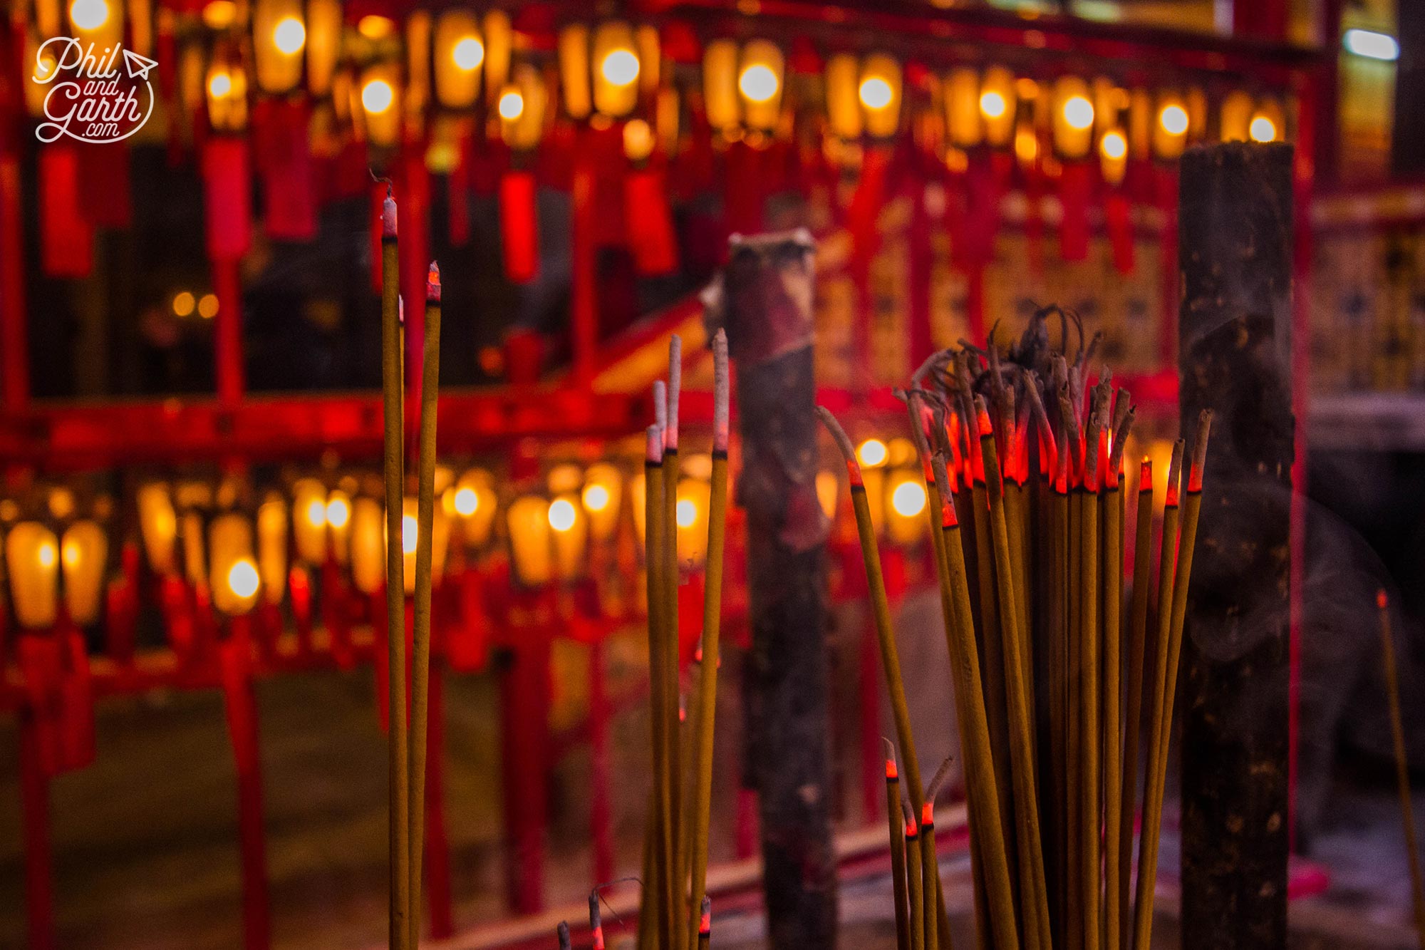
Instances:
[[[727,337],[712,338],[712,476],[708,499],[701,675],[685,716],[678,665],[678,394],[683,341],[668,344],[668,379],[654,384],[656,422],[644,459],[644,563],[648,592],[648,680],[653,717],[653,795],[644,840],[644,900],[638,946],[690,950],[703,939],[693,913],[705,897],[722,548],[727,528],[730,382]],[[691,719],[685,727],[684,723]],[[684,730],[687,735],[684,736]]]

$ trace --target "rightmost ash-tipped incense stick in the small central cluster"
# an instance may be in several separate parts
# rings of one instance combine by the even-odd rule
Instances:
[[[727,446],[730,379],[727,334],[712,337],[712,485],[708,496],[707,573],[703,593],[703,682],[698,690],[691,822],[693,900],[704,897],[708,873],[708,827],[712,803],[712,739],[717,715],[718,635],[722,622],[722,549],[727,529]],[[691,943],[691,939],[690,939]]]

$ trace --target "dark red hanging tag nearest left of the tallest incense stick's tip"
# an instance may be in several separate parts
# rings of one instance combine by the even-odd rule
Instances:
[[[264,230],[279,241],[316,237],[316,195],[308,107],[301,101],[266,100],[254,117],[252,144],[262,177]]]

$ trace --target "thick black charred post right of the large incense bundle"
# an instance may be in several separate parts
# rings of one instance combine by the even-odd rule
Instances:
[[[1183,155],[1183,432],[1213,409],[1183,682],[1184,947],[1287,943],[1292,150]]]

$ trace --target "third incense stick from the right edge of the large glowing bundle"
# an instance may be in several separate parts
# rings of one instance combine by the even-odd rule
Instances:
[[[1123,776],[1119,792],[1119,812],[1123,829],[1119,837],[1119,933],[1129,937],[1129,917],[1133,902],[1129,886],[1133,879],[1133,817],[1139,797],[1139,746],[1143,742],[1143,652],[1147,642],[1149,582],[1153,568],[1153,461],[1147,456],[1139,468],[1137,533],[1133,545],[1133,606],[1127,636],[1129,689],[1123,708]]]

